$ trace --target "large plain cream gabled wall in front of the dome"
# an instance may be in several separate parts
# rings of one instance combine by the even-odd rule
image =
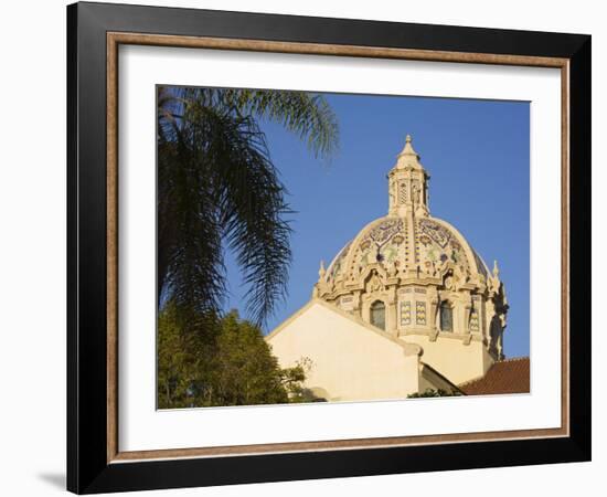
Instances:
[[[281,367],[294,366],[302,357],[311,359],[306,387],[328,401],[403,399],[418,390],[417,348],[407,351],[384,335],[312,300],[267,341]]]

